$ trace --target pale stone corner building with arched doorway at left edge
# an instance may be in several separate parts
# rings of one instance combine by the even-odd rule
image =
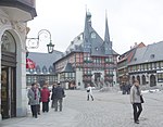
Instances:
[[[0,119],[27,114],[26,34],[35,0],[0,0]]]

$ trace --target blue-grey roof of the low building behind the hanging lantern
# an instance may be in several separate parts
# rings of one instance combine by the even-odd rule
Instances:
[[[53,62],[62,58],[63,52],[54,50],[53,53],[40,53],[40,52],[29,52],[28,59],[36,63],[36,67],[39,66],[40,73],[43,73],[43,68],[49,72],[49,68],[53,68]]]

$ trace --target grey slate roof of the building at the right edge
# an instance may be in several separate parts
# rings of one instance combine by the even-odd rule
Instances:
[[[163,61],[163,41],[137,49],[128,65]]]

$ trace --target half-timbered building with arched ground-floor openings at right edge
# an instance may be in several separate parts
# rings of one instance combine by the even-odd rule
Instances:
[[[163,41],[137,49],[128,64],[129,80],[138,79],[146,87],[163,85]]]

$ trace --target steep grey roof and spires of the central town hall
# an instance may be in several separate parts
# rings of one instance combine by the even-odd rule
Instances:
[[[74,40],[71,42],[71,45],[67,47],[66,51],[64,52],[64,55],[74,52],[85,52],[89,50],[85,50],[85,46],[90,46],[90,54],[91,55],[108,55],[105,54],[105,41],[108,43],[111,43],[108,46],[108,49],[112,50],[112,54],[118,55],[113,49],[112,49],[112,42],[110,41],[110,35],[109,35],[109,28],[108,28],[108,20],[105,24],[105,41],[98,35],[98,33],[92,28],[91,26],[91,14],[89,12],[86,13],[86,21],[85,21],[85,29],[83,33],[80,33],[77,37],[74,38]],[[96,34],[96,38],[91,38],[91,34]],[[108,38],[108,39],[106,39]],[[111,47],[111,48],[110,48]],[[88,48],[89,49],[89,48]],[[111,51],[108,52],[111,54]]]

